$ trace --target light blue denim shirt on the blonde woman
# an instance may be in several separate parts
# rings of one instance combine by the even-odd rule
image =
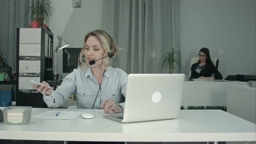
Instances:
[[[121,94],[125,96],[128,75],[123,70],[108,66],[104,76],[102,75],[102,84],[100,91],[99,84],[92,74],[90,67],[74,69],[69,75],[63,79],[61,85],[52,90],[51,95],[43,95],[43,100],[48,107],[56,108],[64,104],[70,94],[76,93],[77,108],[100,108],[100,104],[112,98],[115,103],[125,110],[125,103],[118,103]],[[98,92],[98,95],[97,95]]]

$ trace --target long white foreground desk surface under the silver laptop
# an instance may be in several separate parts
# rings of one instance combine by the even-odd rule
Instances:
[[[33,108],[36,115],[49,108]],[[256,141],[256,124],[221,110],[181,110],[180,118],[137,123],[119,123],[102,118],[103,110],[84,111],[94,118],[72,120],[32,118],[27,125],[0,122],[0,139],[45,141]],[[157,111],[161,112],[161,111]]]

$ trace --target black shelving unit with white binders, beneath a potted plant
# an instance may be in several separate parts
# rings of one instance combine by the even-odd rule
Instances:
[[[53,33],[44,28],[17,28],[16,44],[16,105],[46,108],[43,95],[28,82],[52,80]]]

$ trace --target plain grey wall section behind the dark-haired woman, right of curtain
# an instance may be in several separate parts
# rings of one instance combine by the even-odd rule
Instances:
[[[182,72],[188,74],[190,59],[207,47],[224,78],[256,75],[255,0],[180,0],[180,6]]]

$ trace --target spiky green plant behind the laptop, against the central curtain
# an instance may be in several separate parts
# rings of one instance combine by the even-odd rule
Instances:
[[[169,73],[174,73],[174,69],[181,69],[181,52],[174,51],[172,46],[161,58],[159,63],[160,69],[168,69]]]

